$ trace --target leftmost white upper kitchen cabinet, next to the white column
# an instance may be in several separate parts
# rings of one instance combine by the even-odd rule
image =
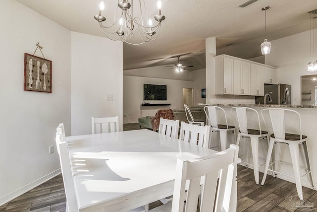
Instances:
[[[215,60],[215,94],[233,94],[233,59],[224,55]]]

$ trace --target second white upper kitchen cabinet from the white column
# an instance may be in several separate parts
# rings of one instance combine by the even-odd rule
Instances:
[[[250,63],[233,60],[233,94],[250,95]]]

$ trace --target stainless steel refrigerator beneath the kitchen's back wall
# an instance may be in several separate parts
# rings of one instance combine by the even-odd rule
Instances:
[[[265,84],[264,96],[266,96],[266,104],[291,105],[291,85]],[[264,96],[256,97],[256,104],[264,104]]]

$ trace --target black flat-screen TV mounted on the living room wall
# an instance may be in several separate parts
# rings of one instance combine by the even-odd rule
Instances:
[[[166,85],[143,85],[143,100],[167,100]]]

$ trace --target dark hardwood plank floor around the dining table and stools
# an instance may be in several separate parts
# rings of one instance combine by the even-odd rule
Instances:
[[[137,124],[124,124],[123,130],[138,130]],[[144,128],[142,128],[144,129]],[[260,174],[260,180],[263,174]],[[237,212],[317,212],[317,192],[303,187],[299,201],[294,183],[267,176],[265,185],[256,185],[253,169],[238,166]],[[304,205],[303,205],[304,204]],[[159,201],[149,205],[155,208]],[[0,212],[65,212],[66,197],[61,174],[0,206]]]

